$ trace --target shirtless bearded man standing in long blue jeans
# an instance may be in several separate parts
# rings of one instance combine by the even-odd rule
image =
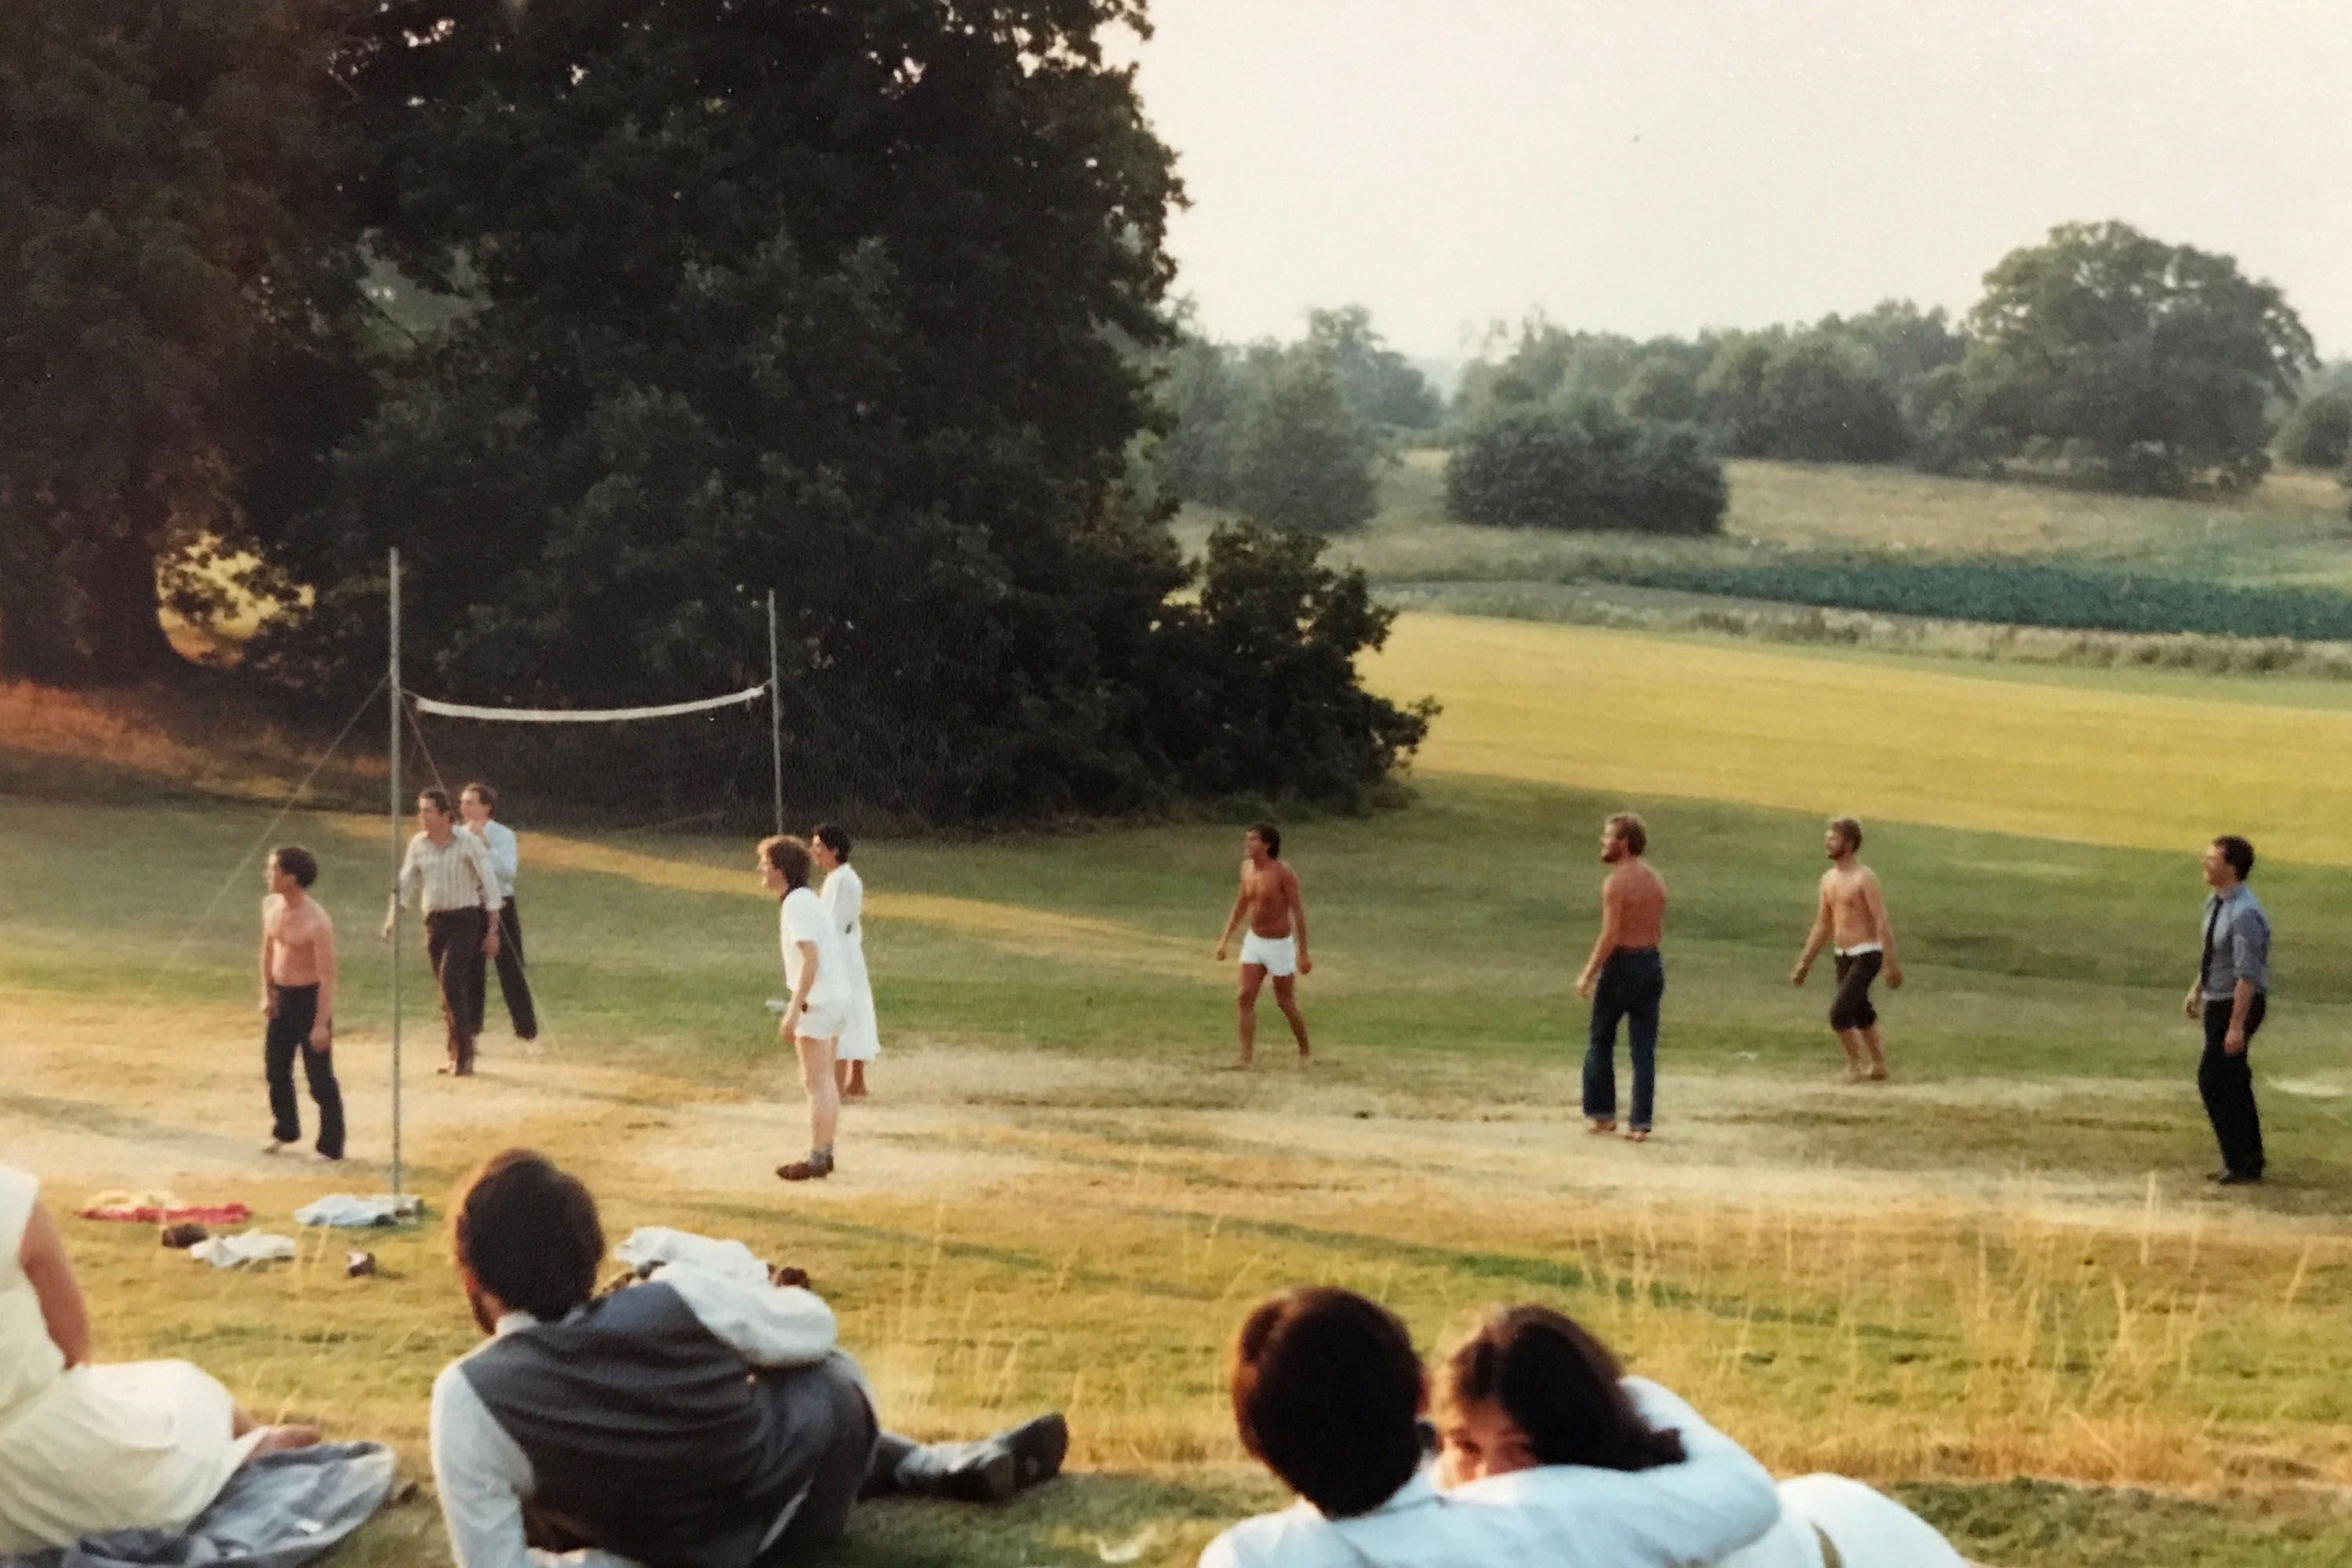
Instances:
[[[1630,811],[1602,823],[1602,933],[1576,976],[1576,994],[1592,999],[1585,1037],[1585,1131],[1616,1131],[1616,1025],[1625,1020],[1632,1048],[1632,1119],[1625,1138],[1649,1140],[1649,1112],[1658,1088],[1658,1001],[1665,997],[1665,884],[1649,870],[1649,827]]]

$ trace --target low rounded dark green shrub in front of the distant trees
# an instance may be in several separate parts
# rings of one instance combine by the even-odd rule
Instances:
[[[1498,409],[1446,461],[1446,515],[1505,529],[1715,534],[1726,503],[1724,465],[1698,430],[1597,400]]]

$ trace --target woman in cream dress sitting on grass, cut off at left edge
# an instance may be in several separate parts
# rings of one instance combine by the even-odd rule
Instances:
[[[315,1441],[254,1422],[186,1361],[92,1361],[89,1307],[40,1182],[0,1166],[0,1556],[186,1530],[240,1465]]]

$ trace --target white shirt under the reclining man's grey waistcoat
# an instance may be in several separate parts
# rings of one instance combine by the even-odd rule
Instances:
[[[833,1307],[809,1291],[680,1262],[663,1265],[656,1279],[677,1291],[703,1328],[743,1356],[746,1368],[811,1366],[833,1352]],[[529,1312],[508,1312],[499,1333],[536,1321]],[[553,1554],[524,1544],[522,1505],[539,1490],[539,1479],[522,1446],[466,1382],[463,1361],[452,1361],[433,1380],[433,1486],[459,1568],[635,1568],[612,1552]],[[769,1542],[790,1519],[788,1509],[769,1530]]]

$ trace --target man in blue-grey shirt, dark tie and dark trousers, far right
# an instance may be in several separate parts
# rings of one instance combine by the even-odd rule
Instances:
[[[2206,844],[2204,947],[2197,957],[2197,985],[2183,1011],[2204,1020],[2206,1048],[2197,1063],[2197,1093],[2204,1095],[2213,1138],[2220,1143],[2220,1171],[2213,1180],[2239,1187],[2263,1180],[2263,1117],[2253,1110],[2253,1067],[2246,1046],[2263,1027],[2270,1001],[2270,917],[2246,889],[2253,875],[2253,844],[2225,832]]]

